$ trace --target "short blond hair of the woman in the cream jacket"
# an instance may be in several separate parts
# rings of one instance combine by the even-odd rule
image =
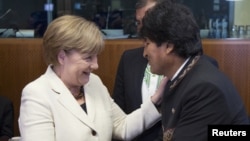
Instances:
[[[80,16],[64,15],[53,20],[43,36],[47,64],[57,65],[57,55],[61,50],[99,54],[103,48],[103,36],[99,28]]]

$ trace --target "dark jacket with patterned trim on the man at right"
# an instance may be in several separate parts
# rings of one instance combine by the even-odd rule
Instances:
[[[164,135],[174,141],[206,141],[210,124],[249,123],[244,104],[231,81],[204,56],[176,87],[165,90]]]

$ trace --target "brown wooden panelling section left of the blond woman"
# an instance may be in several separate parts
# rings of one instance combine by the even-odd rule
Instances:
[[[15,135],[22,88],[46,68],[41,49],[40,39],[0,39],[0,95],[13,101]]]

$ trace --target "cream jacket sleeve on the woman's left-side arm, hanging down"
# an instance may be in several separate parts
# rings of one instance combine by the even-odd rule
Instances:
[[[55,141],[53,116],[43,95],[34,86],[22,92],[18,122],[23,141]]]

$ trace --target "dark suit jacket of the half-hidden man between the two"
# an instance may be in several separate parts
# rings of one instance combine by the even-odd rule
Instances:
[[[125,113],[131,113],[142,104],[141,88],[147,62],[143,47],[125,51],[120,59],[112,96]],[[161,131],[161,122],[158,122],[133,141],[153,141]]]

